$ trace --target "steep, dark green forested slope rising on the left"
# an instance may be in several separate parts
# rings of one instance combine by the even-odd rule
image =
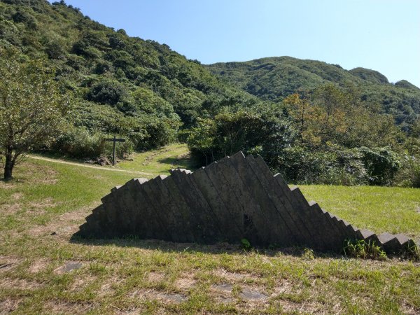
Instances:
[[[167,144],[181,125],[255,99],[221,83],[197,60],[90,20],[64,1],[0,1],[0,46],[45,59],[73,91],[69,120],[86,134],[130,134],[138,149]],[[67,148],[67,151],[70,148]]]

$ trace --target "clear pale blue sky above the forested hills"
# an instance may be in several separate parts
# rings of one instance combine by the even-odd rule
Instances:
[[[420,87],[420,0],[66,0],[204,64],[291,56]]]

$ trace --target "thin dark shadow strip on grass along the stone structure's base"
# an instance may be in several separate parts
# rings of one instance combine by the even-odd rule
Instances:
[[[83,244],[89,246],[106,246],[115,245],[120,247],[134,247],[141,249],[159,250],[167,253],[208,253],[208,254],[248,254],[260,253],[263,255],[274,257],[276,255],[291,255],[300,258],[313,259],[316,258],[343,258],[342,255],[333,252],[318,252],[312,249],[293,246],[293,247],[276,247],[276,248],[251,248],[244,249],[240,244],[196,244],[196,243],[174,243],[172,241],[162,241],[158,239],[139,239],[137,237],[123,237],[116,239],[88,239],[78,235],[73,235],[70,239],[73,244]]]

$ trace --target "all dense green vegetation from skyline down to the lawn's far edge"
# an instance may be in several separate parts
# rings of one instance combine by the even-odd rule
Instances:
[[[74,158],[181,140],[202,164],[242,150],[289,181],[420,186],[420,90],[377,71],[291,57],[203,66],[64,1],[0,1],[0,46],[41,59],[72,94],[37,149]]]

